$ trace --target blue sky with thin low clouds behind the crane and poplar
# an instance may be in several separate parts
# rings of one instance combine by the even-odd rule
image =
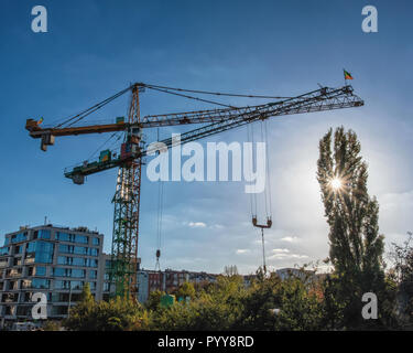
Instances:
[[[31,9],[45,6],[48,32],[31,31]],[[361,31],[361,9],[374,4],[379,32]],[[369,163],[369,191],[380,203],[387,243],[412,229],[413,151],[411,1],[11,1],[0,14],[0,233],[20,225],[86,225],[106,235],[110,249],[116,171],[83,186],[63,169],[88,158],[106,139],[57,139],[47,153],[24,130],[80,111],[131,82],[248,94],[298,95],[355,77],[358,109],[271,120],[273,227],[267,233],[274,268],[323,259],[327,226],[315,179],[317,145],[329,127],[354,129]],[[231,104],[251,104],[230,99]],[[127,99],[97,115],[127,114]],[[143,94],[142,115],[205,107]],[[169,137],[173,129],[161,131]],[[149,140],[155,131],[149,131]],[[246,141],[246,129],[206,141]],[[219,272],[261,264],[260,237],[250,223],[243,183],[166,183],[162,268]],[[157,184],[142,186],[140,256],[153,268]]]

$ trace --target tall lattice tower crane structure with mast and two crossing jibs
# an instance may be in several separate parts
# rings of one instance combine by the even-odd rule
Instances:
[[[139,99],[140,94],[146,89],[193,98],[205,103],[214,101],[188,96],[188,94],[254,97],[276,100],[243,107],[219,104],[224,107],[141,117]],[[100,125],[84,124],[83,119],[88,115],[127,93],[131,95],[127,119],[120,117],[116,119],[116,122]],[[354,94],[354,88],[350,85],[339,88],[320,87],[319,89],[296,97],[273,97],[210,93],[135,83],[90,108],[70,116],[56,126],[42,127],[40,121],[28,119],[25,128],[32,138],[41,140],[41,149],[43,151],[46,151],[48,146],[54,145],[56,137],[119,131],[123,133],[123,142],[121,143],[119,153],[110,150],[102,151],[97,161],[85,161],[74,168],[65,169],[64,175],[72,179],[75,184],[83,184],[87,175],[118,168],[116,192],[112,199],[115,213],[111,278],[116,296],[129,298],[130,296],[135,296],[142,159],[154,152],[151,148],[146,148],[146,145],[142,140],[143,129],[189,124],[203,125],[182,133],[180,141],[172,138],[161,141],[167,148],[172,148],[176,143],[198,140],[247,124],[265,120],[270,117],[360,107],[362,105],[363,100]]]

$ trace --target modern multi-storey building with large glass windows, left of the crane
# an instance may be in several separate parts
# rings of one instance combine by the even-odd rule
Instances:
[[[67,317],[86,282],[102,299],[102,245],[104,235],[86,227],[43,225],[7,234],[0,247],[0,324],[30,320],[35,293],[46,299],[47,319]]]

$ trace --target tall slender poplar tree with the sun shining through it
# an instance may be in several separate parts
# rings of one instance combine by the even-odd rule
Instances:
[[[333,150],[332,150],[333,145]],[[317,180],[329,225],[329,260],[335,274],[329,295],[344,307],[343,324],[362,324],[361,297],[384,288],[383,235],[379,234],[379,204],[367,190],[367,163],[352,130],[330,129],[319,141]]]

